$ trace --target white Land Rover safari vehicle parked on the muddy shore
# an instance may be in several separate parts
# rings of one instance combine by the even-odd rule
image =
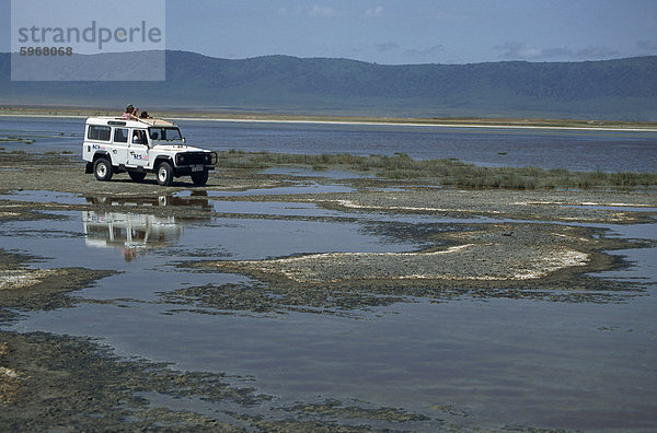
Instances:
[[[171,185],[180,176],[192,176],[194,185],[205,185],[217,164],[217,153],[188,147],[172,122],[122,117],[87,119],[82,159],[87,173],[99,180],[127,172],[139,182],[147,173],[155,173],[160,185]]]

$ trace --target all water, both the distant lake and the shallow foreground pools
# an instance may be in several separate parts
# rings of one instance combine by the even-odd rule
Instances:
[[[404,152],[417,159],[458,157],[482,165],[573,169],[654,172],[657,167],[657,133],[197,121],[181,126],[191,144],[215,150]],[[78,153],[82,131],[82,119],[0,117],[0,138],[30,136],[35,140],[32,144],[0,142],[0,147]],[[342,176],[337,172],[324,175]],[[437,420],[465,429],[655,429],[656,248],[615,253],[633,266],[600,277],[648,285],[639,296],[612,303],[464,295],[443,303],[417,299],[341,316],[171,314],[181,305],[161,302],[162,292],[251,282],[235,273],[180,268],[181,261],[407,251],[423,245],[371,227],[385,222],[470,222],[341,212],[313,203],[222,200],[249,194],[348,190],[339,183],[304,183],[266,191],[210,191],[205,206],[227,214],[222,218],[182,220],[129,213],[126,207],[117,207],[116,212],[57,212],[57,220],[0,223],[0,247],[47,258],[34,267],[120,272],[76,293],[83,300],[110,302],[82,302],[71,308],[30,314],[9,329],[95,337],[119,355],[168,362],[181,370],[224,372],[234,376],[237,384],[275,397],[249,409],[265,418],[292,417],[277,408],[299,401],[338,399],[401,408],[431,419],[417,425],[381,424],[391,429],[435,431],[441,425]],[[184,199],[192,192],[175,195]],[[1,198],[71,204],[88,200],[48,191],[18,191]],[[166,200],[160,204],[169,206]],[[230,218],[230,213],[242,216]],[[255,214],[263,218],[246,218]],[[657,224],[606,227],[625,238],[657,237]],[[240,383],[243,378],[247,379]],[[206,408],[211,416],[222,410],[199,400],[147,397],[155,406]],[[230,408],[219,416],[230,418],[228,413],[235,410],[241,409]]]

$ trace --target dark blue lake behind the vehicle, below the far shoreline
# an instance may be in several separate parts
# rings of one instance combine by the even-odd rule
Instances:
[[[415,126],[178,122],[188,143],[211,150],[277,153],[407,153],[414,159],[456,157],[484,166],[537,166],[604,172],[655,172],[657,132],[566,131]],[[84,119],[0,117],[0,138],[24,136],[32,144],[1,143],[34,152],[80,152]]]

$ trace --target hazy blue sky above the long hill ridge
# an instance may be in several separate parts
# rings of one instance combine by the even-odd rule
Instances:
[[[3,52],[11,49],[10,4],[0,0]],[[129,12],[130,2],[115,4]],[[165,0],[165,5],[168,49],[230,59],[289,55],[406,65],[657,55],[657,0]]]

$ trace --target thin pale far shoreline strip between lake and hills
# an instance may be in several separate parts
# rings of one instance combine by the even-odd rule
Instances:
[[[108,113],[99,113],[89,110],[88,113],[78,114],[45,114],[45,113],[0,113],[2,117],[22,117],[22,118],[62,118],[62,119],[84,119],[91,116],[108,115]],[[119,115],[117,114],[117,117]],[[396,127],[424,127],[424,128],[459,128],[459,129],[504,129],[504,130],[564,130],[564,131],[595,131],[595,132],[657,132],[657,125],[646,127],[623,127],[615,126],[612,122],[611,126],[599,126],[599,125],[521,125],[531,124],[520,119],[505,119],[506,121],[496,121],[492,118],[466,119],[466,120],[449,120],[449,119],[404,119],[404,118],[334,118],[323,116],[270,116],[270,115],[212,115],[209,116],[184,116],[181,113],[172,113],[169,116],[163,113],[160,118],[169,120],[184,120],[184,121],[216,121],[216,122],[244,122],[244,124],[292,124],[292,125],[354,125],[354,126],[396,126]],[[515,122],[518,124],[515,124]],[[535,124],[540,124],[545,120],[537,120]],[[558,121],[558,120],[550,120]],[[578,122],[580,120],[563,120],[564,122]],[[618,122],[622,124],[622,122]]]

